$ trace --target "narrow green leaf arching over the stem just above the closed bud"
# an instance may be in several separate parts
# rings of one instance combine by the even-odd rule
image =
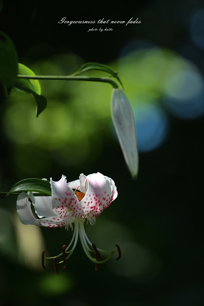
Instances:
[[[102,64],[98,64],[98,63],[86,63],[83,64],[79,70],[77,70],[75,73],[72,74],[72,76],[78,76],[81,73],[87,71],[87,70],[101,70],[101,71],[105,71],[109,74],[111,74],[113,77],[115,77],[118,82],[121,84],[121,86],[123,87],[123,84],[119,78],[119,76],[117,76],[117,72],[114,72],[111,68],[109,68],[106,65],[102,65]],[[124,89],[124,87],[123,87]]]

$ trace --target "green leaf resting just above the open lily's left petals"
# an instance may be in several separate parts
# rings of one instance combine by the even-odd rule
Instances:
[[[27,192],[27,191],[41,192],[49,196],[52,195],[50,181],[40,180],[39,178],[28,178],[13,185],[13,187],[7,193],[6,196],[9,196],[11,192]]]

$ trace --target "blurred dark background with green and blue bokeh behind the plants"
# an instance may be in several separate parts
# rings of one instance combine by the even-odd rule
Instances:
[[[12,3],[12,5],[11,5]],[[30,94],[1,104],[1,191],[29,177],[68,181],[101,172],[118,197],[85,225],[98,248],[121,247],[95,272],[80,241],[66,269],[41,267],[72,231],[20,223],[16,199],[1,200],[0,299],[4,305],[199,306],[203,304],[204,6],[201,1],[144,1],[93,13],[60,0],[5,1],[1,30],[19,62],[37,75],[69,75],[83,63],[118,72],[135,114],[139,175],[131,179],[110,118],[111,86],[40,81],[47,108],[35,118]],[[88,32],[67,20],[141,20]],[[106,25],[94,25],[106,28]],[[84,75],[105,76],[103,72]],[[108,76],[106,76],[108,77]]]

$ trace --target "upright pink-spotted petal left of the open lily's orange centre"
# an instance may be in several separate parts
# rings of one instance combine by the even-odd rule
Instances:
[[[54,182],[50,178],[50,185],[52,189],[52,207],[58,215],[64,215],[66,217],[66,208],[70,209],[74,213],[74,216],[83,214],[82,204],[74,194],[74,191],[69,188],[64,175],[62,175],[61,180],[58,182]]]

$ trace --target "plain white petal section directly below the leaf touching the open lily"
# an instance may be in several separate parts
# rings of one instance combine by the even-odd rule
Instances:
[[[36,196],[35,197],[35,212],[39,218],[54,217],[57,214],[52,209],[51,196]]]

